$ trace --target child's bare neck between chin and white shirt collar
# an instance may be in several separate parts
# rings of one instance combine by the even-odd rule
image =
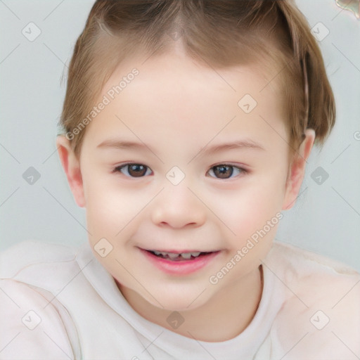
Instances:
[[[173,311],[155,307],[134,290],[125,288],[116,280],[115,282],[130,306],[148,321],[187,338],[205,342],[221,342],[235,338],[249,326],[262,298],[262,278],[262,266],[259,266],[242,278],[241,283],[229,285],[203,306],[178,311],[183,316],[186,326],[176,329],[167,323],[167,317]],[[212,315],[209,316],[209,314]]]

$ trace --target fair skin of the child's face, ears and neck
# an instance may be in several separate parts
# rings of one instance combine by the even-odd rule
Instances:
[[[215,72],[174,53],[120,64],[98,100],[132,68],[139,75],[87,125],[79,159],[65,136],[57,139],[72,193],[86,207],[89,242],[141,316],[188,338],[229,340],[255,316],[262,296],[259,266],[277,226],[216,285],[209,278],[266,221],[293,206],[314,131],[307,130],[290,163],[281,99],[274,84],[264,87],[270,76],[266,80],[252,66]],[[245,94],[257,101],[249,114],[238,107]],[[120,138],[148,148],[98,147]],[[264,149],[205,152],[243,139]],[[127,167],[112,172],[129,162],[145,165],[144,175]],[[233,165],[229,179],[214,168],[221,164]],[[166,177],[174,166],[185,174],[176,186]],[[106,257],[94,251],[101,238],[113,245]],[[221,252],[203,269],[174,276],[153,266],[139,248]],[[167,323],[173,311],[184,317],[176,329]]]

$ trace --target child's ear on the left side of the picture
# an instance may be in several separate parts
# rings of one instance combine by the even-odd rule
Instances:
[[[63,135],[56,138],[56,147],[58,155],[63,165],[68,183],[74,195],[75,201],[79,207],[85,207],[84,186],[82,183],[82,174],[80,172],[80,163],[70,146],[70,140]]]

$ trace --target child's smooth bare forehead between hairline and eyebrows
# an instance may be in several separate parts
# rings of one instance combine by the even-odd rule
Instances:
[[[110,103],[86,131],[98,141],[117,130],[150,142],[159,135],[171,143],[189,134],[209,141],[235,133],[268,141],[272,127],[278,140],[276,132],[285,129],[274,72],[260,65],[217,69],[179,53],[129,58],[103,86],[98,101],[105,96]]]

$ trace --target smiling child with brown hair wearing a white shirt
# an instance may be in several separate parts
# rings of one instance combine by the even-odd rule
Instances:
[[[335,122],[290,0],[98,0],[57,139],[89,242],[1,255],[1,359],[359,359],[360,275],[274,241]]]

